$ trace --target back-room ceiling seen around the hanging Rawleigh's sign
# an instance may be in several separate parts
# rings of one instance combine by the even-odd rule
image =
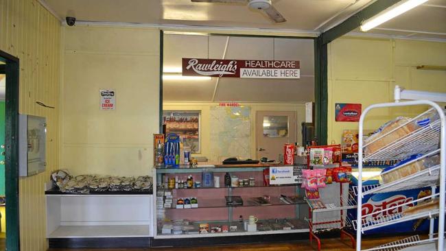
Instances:
[[[163,69],[180,69],[181,58],[222,58],[227,36],[165,34]],[[163,80],[164,101],[313,101],[312,39],[231,36],[226,59],[299,60],[298,80],[217,77],[211,80]]]

